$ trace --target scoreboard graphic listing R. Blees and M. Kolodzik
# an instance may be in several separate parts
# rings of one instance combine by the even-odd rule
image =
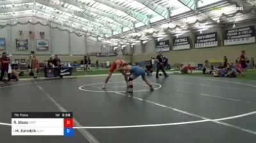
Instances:
[[[72,112],[12,112],[12,135],[73,135]]]

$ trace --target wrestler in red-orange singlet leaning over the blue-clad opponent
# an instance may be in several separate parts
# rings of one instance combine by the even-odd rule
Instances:
[[[127,83],[128,86],[128,80],[127,80],[127,75],[126,72],[124,70],[120,70],[120,68],[122,68],[123,64],[126,63],[124,60],[122,59],[116,59],[116,61],[113,61],[109,72],[108,72],[108,76],[106,77],[105,83],[102,86],[102,89],[106,89],[106,84],[108,83],[108,80],[110,79],[112,73],[116,70],[119,71],[120,73],[122,73],[124,75],[124,80]]]

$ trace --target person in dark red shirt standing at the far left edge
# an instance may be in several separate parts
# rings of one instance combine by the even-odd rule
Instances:
[[[0,84],[4,84],[3,82],[4,72],[8,73],[9,64],[11,63],[11,59],[7,57],[6,52],[3,52],[2,57],[0,58],[0,63],[1,63]],[[8,73],[8,81],[10,80],[11,80],[11,74]]]

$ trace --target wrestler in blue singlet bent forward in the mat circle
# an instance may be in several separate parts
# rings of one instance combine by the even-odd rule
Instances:
[[[131,72],[131,75],[128,80],[130,89],[127,90],[127,93],[133,93],[132,80],[136,79],[137,77],[140,77],[140,75],[142,80],[144,80],[146,84],[150,87],[150,91],[154,91],[154,88],[152,87],[150,81],[146,78],[145,70],[143,68],[141,68],[140,66],[131,66],[127,63],[123,64],[123,66],[124,67],[120,68],[120,70]]]

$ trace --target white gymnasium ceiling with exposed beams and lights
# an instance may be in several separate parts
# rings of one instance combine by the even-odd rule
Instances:
[[[255,4],[255,0],[1,0],[0,26],[28,19],[111,45],[133,45],[256,19]]]

